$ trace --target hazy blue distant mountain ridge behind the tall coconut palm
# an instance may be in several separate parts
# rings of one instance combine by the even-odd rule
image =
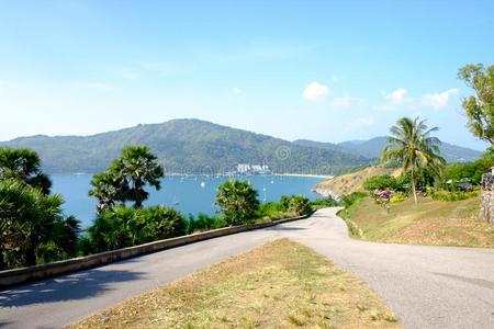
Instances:
[[[307,147],[318,147],[333,151],[347,152],[353,156],[362,156],[369,159],[379,159],[382,149],[386,144],[386,137],[374,137],[369,140],[350,140],[338,144],[321,143],[307,139],[297,139],[294,144]],[[482,156],[481,151],[452,145],[446,141],[441,143],[441,155],[448,162],[473,161]]]

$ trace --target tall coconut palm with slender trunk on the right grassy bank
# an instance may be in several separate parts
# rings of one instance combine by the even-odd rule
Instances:
[[[424,168],[438,177],[446,163],[439,155],[440,140],[431,136],[438,129],[429,128],[426,121],[420,121],[418,116],[414,120],[402,117],[390,128],[391,136],[388,136],[388,145],[382,151],[383,161],[397,160],[402,163],[403,171],[409,172],[415,204],[418,203],[417,170]]]

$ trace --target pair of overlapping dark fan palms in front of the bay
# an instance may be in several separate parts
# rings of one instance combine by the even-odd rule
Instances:
[[[159,166],[157,157],[147,146],[128,146],[122,151],[122,157],[115,159],[110,168],[97,173],[89,191],[90,196],[98,198],[97,211],[102,212],[115,204],[134,202],[135,208],[141,208],[149,193],[144,190],[146,184],[161,188],[160,179],[164,169]]]

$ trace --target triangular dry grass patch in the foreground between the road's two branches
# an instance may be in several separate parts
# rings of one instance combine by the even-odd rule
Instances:
[[[72,328],[401,328],[351,274],[287,239],[130,298]]]

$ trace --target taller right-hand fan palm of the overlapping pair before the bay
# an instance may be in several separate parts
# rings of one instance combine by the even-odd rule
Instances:
[[[127,146],[117,161],[121,161],[119,167],[122,175],[127,178],[131,183],[127,198],[134,202],[135,208],[141,208],[149,195],[144,186],[149,184],[159,191],[161,189],[160,179],[165,174],[164,169],[147,146]]]

